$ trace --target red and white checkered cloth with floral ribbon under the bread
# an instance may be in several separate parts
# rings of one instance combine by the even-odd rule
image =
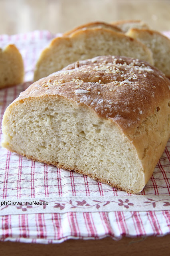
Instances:
[[[14,43],[20,49],[26,71],[24,84],[0,90],[0,126],[6,107],[30,85],[36,60],[53,37],[48,31],[0,36],[0,48]],[[165,234],[170,234],[170,140],[136,195],[0,147],[0,240],[59,243]]]

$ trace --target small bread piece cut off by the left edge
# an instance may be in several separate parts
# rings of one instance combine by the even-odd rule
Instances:
[[[0,48],[0,88],[20,84],[24,79],[22,56],[14,44]]]

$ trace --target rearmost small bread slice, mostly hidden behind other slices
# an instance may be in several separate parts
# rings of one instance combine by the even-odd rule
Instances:
[[[121,30],[126,33],[130,28],[145,28],[149,29],[148,25],[141,20],[119,20],[116,22],[111,22],[112,25],[121,28]]]

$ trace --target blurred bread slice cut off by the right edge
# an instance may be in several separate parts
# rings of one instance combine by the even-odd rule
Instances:
[[[127,35],[140,40],[153,53],[154,66],[170,78],[170,39],[158,31],[132,28]]]

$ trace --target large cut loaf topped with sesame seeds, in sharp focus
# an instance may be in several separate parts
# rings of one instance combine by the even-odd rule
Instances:
[[[170,136],[170,81],[132,58],[79,61],[22,92],[2,131],[13,152],[137,193]]]

